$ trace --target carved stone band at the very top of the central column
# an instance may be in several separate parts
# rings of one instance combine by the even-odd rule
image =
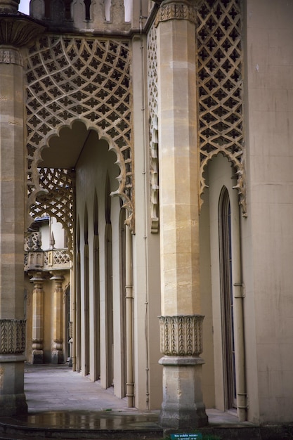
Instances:
[[[157,26],[159,22],[167,20],[189,20],[195,23],[195,6],[188,4],[183,0],[163,3],[157,13],[155,25]]]

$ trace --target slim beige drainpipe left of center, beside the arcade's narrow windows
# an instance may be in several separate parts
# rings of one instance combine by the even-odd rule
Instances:
[[[132,286],[132,258],[131,258],[131,231],[129,226],[126,226],[126,397],[127,406],[134,407],[134,349],[133,349],[133,286]]]

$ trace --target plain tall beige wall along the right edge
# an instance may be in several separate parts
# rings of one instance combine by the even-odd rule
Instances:
[[[254,299],[256,325],[255,337],[250,333],[246,341],[256,344],[256,360],[247,358],[247,369],[257,370],[249,413],[259,422],[292,420],[292,16],[292,1],[247,0],[248,218],[242,240],[245,302]]]

